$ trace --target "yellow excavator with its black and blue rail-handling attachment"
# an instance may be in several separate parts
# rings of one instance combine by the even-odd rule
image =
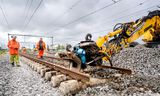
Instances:
[[[67,46],[66,50],[69,54],[60,54],[60,57],[70,58],[73,63],[81,64],[82,69],[90,65],[123,70],[123,68],[114,67],[110,58],[123,48],[129,47],[142,35],[142,40],[146,42],[147,47],[158,47],[160,44],[160,10],[149,12],[147,16],[134,22],[118,23],[113,28],[113,32],[99,37],[96,42],[91,40],[91,34],[87,34],[85,41],[75,45],[73,50],[70,50],[70,45]],[[102,66],[103,61],[109,61],[110,66]]]

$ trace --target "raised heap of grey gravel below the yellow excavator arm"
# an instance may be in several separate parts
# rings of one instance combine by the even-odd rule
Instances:
[[[160,48],[127,48],[112,58],[113,64],[133,74],[160,75]]]

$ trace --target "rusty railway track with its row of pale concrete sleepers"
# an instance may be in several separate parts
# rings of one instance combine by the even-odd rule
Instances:
[[[36,58],[34,54],[20,53],[23,62],[27,63],[41,74],[45,80],[51,81],[53,87],[59,86],[62,93],[75,94],[77,91],[89,86],[99,85],[108,82],[108,79],[93,78],[88,72],[78,72],[69,69],[69,59],[44,56],[43,59]],[[99,68],[108,68],[102,66]],[[116,68],[115,68],[116,69]],[[130,70],[118,70],[130,73]]]

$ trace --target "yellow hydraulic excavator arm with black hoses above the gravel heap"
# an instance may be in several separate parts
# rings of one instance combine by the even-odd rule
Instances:
[[[118,27],[116,27],[118,25]],[[113,32],[96,41],[100,52],[107,54],[103,60],[109,60],[112,55],[118,53],[129,44],[143,35],[144,42],[160,42],[160,11],[150,12],[147,16],[135,22],[118,23]],[[119,26],[120,25],[120,26]]]

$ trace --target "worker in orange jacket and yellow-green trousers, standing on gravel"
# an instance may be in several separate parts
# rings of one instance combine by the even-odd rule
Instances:
[[[18,41],[16,41],[16,36],[11,36],[12,40],[8,42],[8,48],[9,48],[9,54],[10,54],[10,63],[12,66],[15,66],[15,63],[17,67],[19,67],[19,47],[20,44]]]

